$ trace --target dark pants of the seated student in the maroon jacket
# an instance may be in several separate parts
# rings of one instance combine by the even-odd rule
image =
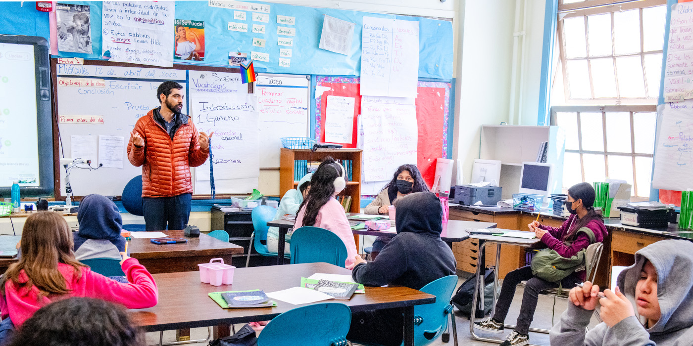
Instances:
[[[520,316],[518,316],[515,330],[518,331],[518,333],[527,334],[529,333],[529,325],[531,325],[532,320],[534,320],[534,310],[536,310],[539,292],[545,289],[554,289],[558,287],[559,284],[534,277],[534,275],[532,275],[532,268],[529,266],[523,266],[522,268],[507,273],[505,279],[503,279],[503,286],[500,289],[498,301],[495,302],[494,320],[500,322],[505,321],[505,316],[507,316],[508,309],[510,309],[510,303],[513,302],[513,297],[515,296],[516,286],[523,280],[527,280],[527,283],[525,284],[522,307],[520,307]],[[582,280],[579,279],[578,275],[572,273],[561,280],[561,285],[563,289],[570,290],[575,284],[579,284],[580,282],[582,282]]]

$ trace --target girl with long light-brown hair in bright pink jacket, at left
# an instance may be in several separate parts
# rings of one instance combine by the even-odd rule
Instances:
[[[157,284],[136,259],[121,253],[121,266],[129,283],[111,280],[75,260],[70,233],[67,222],[55,212],[38,212],[26,219],[21,235],[21,259],[0,280],[3,325],[10,318],[21,329],[24,321],[38,309],[68,297],[98,298],[129,309],[157,304]]]

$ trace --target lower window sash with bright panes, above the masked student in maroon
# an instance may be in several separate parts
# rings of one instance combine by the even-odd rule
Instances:
[[[552,125],[565,130],[563,188],[622,179],[633,199],[650,192],[656,106],[554,106]]]

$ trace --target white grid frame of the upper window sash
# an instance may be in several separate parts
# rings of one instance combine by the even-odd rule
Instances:
[[[614,1],[614,0],[586,0],[577,3],[563,4],[563,0],[559,0],[559,18],[556,26],[557,39],[559,44],[559,63],[561,64],[561,73],[563,73],[563,92],[565,95],[565,104],[594,104],[594,105],[604,105],[604,104],[657,104],[659,100],[659,90],[650,92],[649,85],[647,82],[647,71],[645,70],[644,57],[646,55],[663,55],[663,49],[657,51],[644,51],[644,29],[642,23],[642,9],[651,8],[656,6],[666,6],[666,0],[631,0],[631,1]],[[640,17],[640,52],[638,53],[628,53],[628,54],[616,54],[614,47],[614,12],[635,10],[639,9]],[[611,55],[599,55],[590,56],[589,46],[589,25],[588,16],[599,15],[611,13]],[[585,42],[586,42],[586,56],[585,57],[572,57],[568,58],[565,54],[565,32],[563,19],[573,18],[573,17],[583,17],[585,21]],[[665,42],[666,44],[666,42]],[[644,98],[622,98],[620,97],[618,70],[616,64],[616,58],[618,57],[640,57],[640,64],[642,66],[642,78],[644,80]],[[613,62],[613,72],[615,76],[615,88],[616,97],[615,98],[595,98],[595,87],[592,78],[592,66],[591,60],[604,59],[611,57]],[[587,73],[588,80],[590,82],[590,95],[591,98],[571,98],[570,95],[570,77],[566,69],[566,62],[572,60],[586,60],[587,62]],[[652,95],[656,93],[656,95]],[[650,95],[650,96],[647,96]]]

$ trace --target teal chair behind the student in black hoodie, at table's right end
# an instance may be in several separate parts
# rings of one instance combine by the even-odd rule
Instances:
[[[414,345],[426,346],[433,343],[448,328],[449,316],[452,321],[450,327],[453,329],[455,346],[457,346],[457,326],[455,325],[453,304],[450,304],[455,286],[457,286],[457,275],[448,275],[430,282],[419,290],[435,295],[435,303],[414,307]],[[375,344],[358,343],[358,341],[354,345],[376,346]]]

